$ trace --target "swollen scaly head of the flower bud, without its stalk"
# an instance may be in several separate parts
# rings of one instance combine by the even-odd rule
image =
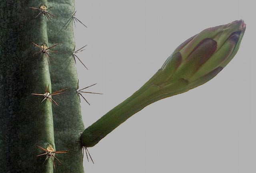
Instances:
[[[234,57],[245,29],[243,20],[204,29],[179,45],[146,84],[167,97],[206,83]]]

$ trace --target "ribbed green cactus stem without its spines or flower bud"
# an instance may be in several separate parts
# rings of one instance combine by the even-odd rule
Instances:
[[[48,20],[38,10],[46,5],[55,17]],[[0,25],[0,172],[83,173],[80,133],[84,130],[80,102],[76,94],[77,73],[74,61],[65,61],[74,48],[73,26],[62,29],[74,12],[74,0],[3,1]],[[62,29],[62,30],[61,30]],[[61,31],[60,31],[61,30]],[[59,32],[60,31],[60,32]],[[45,55],[31,42],[42,43],[58,53]],[[68,88],[52,96],[59,106],[31,93],[44,93]],[[44,153],[36,147],[51,144],[62,161],[36,157]]]

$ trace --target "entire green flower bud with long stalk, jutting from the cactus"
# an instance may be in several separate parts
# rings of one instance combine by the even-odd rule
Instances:
[[[236,55],[245,29],[244,21],[236,20],[204,29],[184,41],[148,82],[84,130],[82,145],[94,146],[147,105],[210,81]]]

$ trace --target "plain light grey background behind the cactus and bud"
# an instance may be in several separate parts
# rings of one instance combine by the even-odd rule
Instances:
[[[142,86],[174,49],[205,28],[243,19],[240,50],[210,82],[138,112],[96,146],[87,173],[255,173],[255,20],[252,0],[77,0],[80,86],[90,126]],[[86,159],[85,159],[86,160]]]

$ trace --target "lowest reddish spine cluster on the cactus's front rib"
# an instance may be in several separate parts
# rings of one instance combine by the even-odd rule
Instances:
[[[52,145],[48,145],[48,147],[45,149],[43,147],[40,147],[39,145],[36,145],[38,148],[42,149],[43,151],[45,151],[45,153],[39,154],[36,157],[42,156],[42,155],[46,155],[46,158],[44,160],[44,162],[50,157],[50,159],[52,160],[52,164],[54,169],[56,169],[55,167],[55,163],[54,163],[54,159],[56,159],[59,163],[61,163],[61,161],[54,155],[56,153],[67,153],[68,151],[54,151],[54,148],[52,147]],[[44,164],[43,162],[43,164]]]

